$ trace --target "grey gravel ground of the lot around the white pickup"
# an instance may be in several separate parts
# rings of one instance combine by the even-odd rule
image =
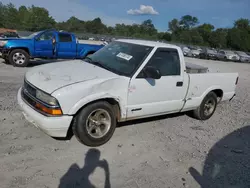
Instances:
[[[16,94],[28,68],[0,63],[1,188],[250,187],[250,64],[186,61],[239,72],[236,98],[205,122],[180,114],[123,124],[95,149],[25,121]]]

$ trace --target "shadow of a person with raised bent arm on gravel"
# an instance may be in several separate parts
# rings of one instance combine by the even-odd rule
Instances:
[[[77,164],[71,165],[68,172],[61,178],[58,188],[95,188],[90,182],[89,176],[94,173],[97,167],[105,172],[104,188],[110,188],[110,172],[108,162],[100,160],[101,153],[98,149],[89,149],[83,168]]]

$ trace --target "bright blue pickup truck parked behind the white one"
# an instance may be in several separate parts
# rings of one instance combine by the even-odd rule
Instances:
[[[54,29],[23,38],[0,39],[0,56],[16,67],[26,67],[33,58],[81,59],[104,46],[98,41],[78,41],[74,34]]]

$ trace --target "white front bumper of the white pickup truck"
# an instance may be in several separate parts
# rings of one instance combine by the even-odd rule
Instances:
[[[30,107],[23,99],[21,94],[22,88],[17,94],[17,101],[23,115],[27,121],[40,128],[46,134],[52,137],[66,137],[73,116],[47,117],[32,107]]]

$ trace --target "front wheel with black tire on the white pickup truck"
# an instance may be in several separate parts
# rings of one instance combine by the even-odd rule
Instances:
[[[91,117],[95,111],[99,112],[99,114],[101,113],[100,111],[105,112],[103,113],[103,117],[106,115],[107,122],[110,122],[109,129],[104,129],[104,132],[106,133],[101,137],[100,135],[97,136],[97,132],[100,133],[100,127],[105,127],[105,124],[97,125],[93,122],[92,125],[88,124],[89,122],[91,122],[89,117]],[[92,118],[94,119],[95,116],[92,116]],[[96,119],[95,121],[98,122],[98,120]],[[86,146],[96,147],[101,146],[110,140],[110,138],[114,134],[116,123],[116,116],[112,106],[105,101],[100,101],[87,105],[75,116],[73,120],[72,131],[80,143]],[[92,126],[92,128],[90,128],[90,126]],[[99,131],[97,131],[98,127]]]

